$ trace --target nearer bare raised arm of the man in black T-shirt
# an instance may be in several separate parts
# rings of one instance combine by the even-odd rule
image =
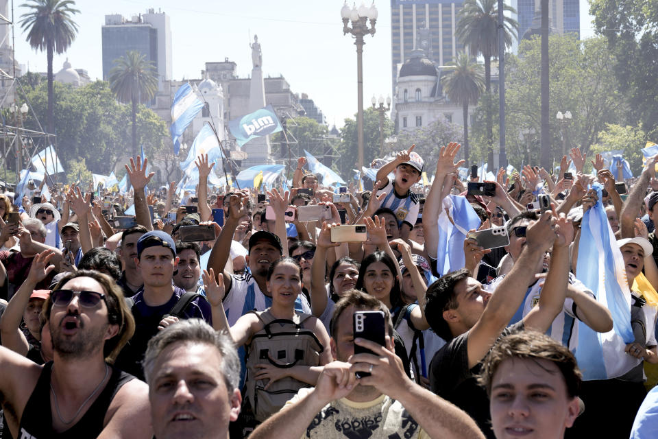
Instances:
[[[478,364],[520,307],[535,278],[535,268],[555,240],[555,217],[546,211],[526,230],[526,246],[511,271],[496,287],[482,316],[468,333],[468,367]]]

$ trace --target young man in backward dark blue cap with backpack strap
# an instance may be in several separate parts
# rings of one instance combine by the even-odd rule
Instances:
[[[178,317],[169,316],[186,293],[173,284],[178,261],[173,239],[161,230],[145,233],[137,241],[135,263],[141,270],[144,287],[131,298],[135,334],[130,344],[121,351],[117,366],[140,379],[144,377],[141,361],[149,340],[160,329],[178,322]],[[193,298],[178,315],[181,318],[200,318],[212,324],[210,304],[203,296]]]

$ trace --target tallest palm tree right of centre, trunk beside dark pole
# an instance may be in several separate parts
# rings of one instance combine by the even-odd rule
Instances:
[[[510,5],[504,5],[505,12],[515,13]],[[512,45],[516,38],[519,23],[505,16],[504,43],[505,47]],[[498,0],[465,0],[459,11],[455,34],[471,56],[482,55],[485,58],[485,88],[491,91],[491,58],[498,58]],[[491,116],[491,97],[485,100],[487,104],[487,149],[489,150],[489,168],[493,169],[493,122]],[[502,116],[502,115],[501,115]]]

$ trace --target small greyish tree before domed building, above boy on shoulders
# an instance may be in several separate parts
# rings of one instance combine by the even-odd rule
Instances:
[[[461,126],[441,117],[426,126],[400,131],[394,150],[406,150],[410,145],[415,144],[414,151],[425,161],[428,175],[432,175],[439,159],[440,148],[450,142],[463,143],[462,135]]]

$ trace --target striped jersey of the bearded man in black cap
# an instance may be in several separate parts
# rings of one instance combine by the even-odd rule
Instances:
[[[243,276],[232,274],[231,288],[226,293],[223,300],[224,311],[229,326],[252,309],[256,311],[265,311],[272,306],[272,298],[265,296],[260,291],[256,279],[248,272]],[[295,309],[310,314],[310,305],[304,294],[300,294],[295,300]]]

